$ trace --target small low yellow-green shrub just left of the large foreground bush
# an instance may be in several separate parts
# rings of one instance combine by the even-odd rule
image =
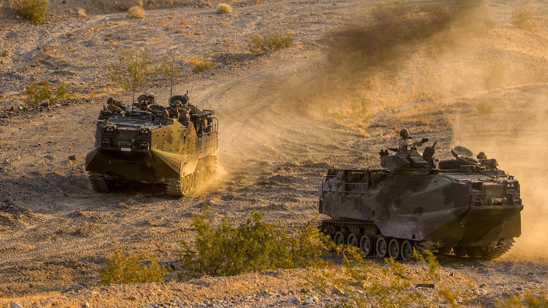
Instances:
[[[150,260],[149,267],[142,261]],[[158,265],[154,257],[148,258],[145,254],[127,255],[122,250],[116,250],[106,258],[109,266],[103,269],[99,280],[101,284],[130,284],[162,282],[168,270]]]

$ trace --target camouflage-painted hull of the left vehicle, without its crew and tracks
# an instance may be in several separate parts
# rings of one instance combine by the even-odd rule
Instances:
[[[201,165],[212,168],[210,163],[218,149],[218,122],[213,114],[212,110],[204,110],[188,122],[176,117],[152,117],[149,112],[100,116],[95,147],[85,157],[85,170],[99,174],[103,181],[168,184],[169,179],[192,175]],[[202,119],[208,124],[200,131],[196,127]],[[96,190],[106,190],[106,182],[101,188],[93,176],[92,185]]]

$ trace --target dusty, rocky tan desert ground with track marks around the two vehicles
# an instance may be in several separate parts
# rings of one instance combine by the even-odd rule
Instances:
[[[0,306],[339,306],[344,295],[302,292],[305,270],[178,281],[179,243],[196,237],[192,214],[202,204],[215,221],[238,223],[253,208],[289,226],[315,219],[326,169],[379,167],[379,150],[393,147],[401,128],[437,141],[439,159],[454,145],[484,151],[521,183],[522,235],[512,249],[489,261],[439,256],[436,287],[425,295],[445,286],[470,294],[454,304],[489,307],[546,294],[548,2],[410,3],[431,10],[376,22],[373,1],[241,1],[215,14],[217,2],[150,0],[145,18],[134,19],[125,13],[134,3],[50,0],[48,21],[33,25],[2,2]],[[520,7],[534,13],[535,29],[511,24]],[[279,30],[292,47],[247,52],[253,33]],[[182,73],[138,95],[167,101],[189,91],[219,119],[216,178],[185,197],[143,183],[98,193],[84,170],[106,98],[135,97],[109,81],[108,67],[122,50],[145,46],[155,59],[169,54]],[[191,56],[216,67],[192,73]],[[25,88],[42,80],[75,97],[28,104]],[[101,286],[116,249],[175,270],[163,283]]]

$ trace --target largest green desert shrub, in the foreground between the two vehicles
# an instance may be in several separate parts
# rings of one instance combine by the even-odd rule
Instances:
[[[289,269],[307,266],[323,253],[316,224],[310,222],[290,233],[286,226],[266,223],[253,210],[247,220],[234,226],[223,218],[214,227],[209,208],[193,215],[198,233],[195,250],[182,241],[180,278],[239,275],[244,272]]]

